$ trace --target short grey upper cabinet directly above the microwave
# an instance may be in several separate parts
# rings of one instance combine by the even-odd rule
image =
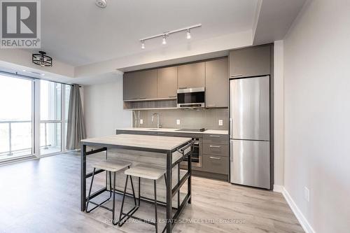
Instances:
[[[179,89],[204,87],[205,85],[204,62],[178,66],[178,85],[179,85]]]

